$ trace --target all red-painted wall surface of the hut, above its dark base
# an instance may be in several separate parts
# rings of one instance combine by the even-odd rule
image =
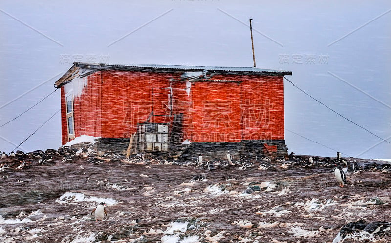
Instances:
[[[191,81],[187,93],[181,73],[102,71],[85,77],[87,85],[74,99],[75,136],[129,138],[137,123],[155,115],[183,113],[184,139],[192,142],[240,142],[284,139],[282,76],[215,75]],[[83,83],[83,82],[80,82]],[[79,85],[80,86],[80,85]],[[152,95],[153,89],[153,95]],[[63,107],[64,106],[64,107]],[[62,89],[63,143],[67,142],[65,95]],[[65,116],[65,118],[64,118]],[[150,122],[171,122],[173,116],[151,116]]]

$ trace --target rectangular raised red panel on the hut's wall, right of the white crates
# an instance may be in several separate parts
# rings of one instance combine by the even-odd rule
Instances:
[[[194,82],[192,142],[240,142],[240,83]]]

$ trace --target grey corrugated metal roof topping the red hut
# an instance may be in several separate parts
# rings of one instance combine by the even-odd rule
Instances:
[[[216,67],[216,66],[184,66],[184,65],[159,65],[159,64],[103,64],[103,63],[76,63],[77,65],[102,65],[102,66],[113,66],[113,67],[145,67],[145,68],[162,68],[162,69],[188,69],[188,70],[216,70],[216,71],[233,71],[233,72],[282,72],[286,73],[289,71],[285,70],[273,70],[263,69],[256,67]]]

